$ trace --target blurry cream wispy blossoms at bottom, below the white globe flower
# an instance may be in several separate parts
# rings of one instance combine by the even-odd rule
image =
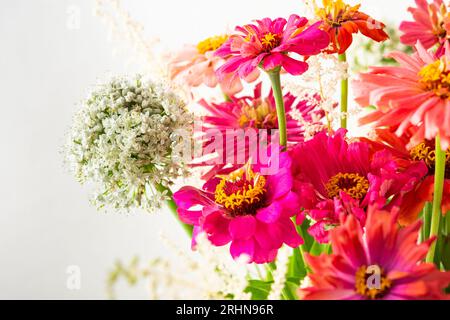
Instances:
[[[234,261],[225,247],[214,247],[206,235],[197,237],[195,254],[185,252],[179,246],[164,238],[166,246],[175,255],[172,259],[156,259],[146,266],[139,266],[133,260],[129,267],[116,265],[108,283],[110,295],[115,296],[114,286],[119,278],[131,285],[139,280],[146,281],[150,299],[173,300],[249,300],[245,293],[248,285],[246,259]]]

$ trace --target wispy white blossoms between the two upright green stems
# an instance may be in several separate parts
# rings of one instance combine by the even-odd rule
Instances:
[[[295,82],[286,81],[285,89],[312,104],[319,102],[319,107],[326,113],[328,125],[337,124],[342,116],[336,108],[338,106],[337,95],[341,80],[348,78],[348,64],[340,62],[335,55],[330,54],[312,56],[308,59],[308,64],[308,71],[301,77],[295,78]],[[317,101],[318,99],[311,95],[311,92],[316,92],[320,101]],[[293,110],[291,116],[297,121],[303,121],[300,112]],[[313,123],[312,125],[310,131],[314,132],[317,130],[317,124]]]

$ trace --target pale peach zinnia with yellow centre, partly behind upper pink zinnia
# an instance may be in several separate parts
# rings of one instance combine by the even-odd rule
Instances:
[[[242,91],[242,83],[239,78],[227,75],[221,81],[217,79],[216,70],[223,65],[224,60],[214,56],[214,52],[226,41],[228,36],[215,36],[200,42],[197,46],[189,45],[177,53],[169,62],[170,78],[182,78],[190,87],[198,87],[202,84],[215,88],[218,84],[227,95],[234,95]],[[252,82],[259,77],[259,71],[246,77],[247,82]]]

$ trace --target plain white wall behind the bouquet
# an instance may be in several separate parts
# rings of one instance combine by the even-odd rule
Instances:
[[[264,16],[299,13],[301,0],[124,0],[148,37],[168,47],[198,42]],[[354,1],[352,1],[354,2]],[[362,0],[375,18],[400,21],[412,0]],[[164,254],[163,231],[183,239],[165,212],[98,213],[59,152],[76,103],[97,77],[129,71],[114,55],[90,0],[0,0],[0,298],[102,299],[116,258]],[[68,28],[78,8],[80,28]],[[137,64],[139,65],[139,64]],[[128,66],[128,67],[127,67]],[[134,66],[136,68],[136,65]],[[180,245],[189,245],[180,241]],[[78,265],[82,287],[66,288]],[[143,297],[127,292],[124,297]]]

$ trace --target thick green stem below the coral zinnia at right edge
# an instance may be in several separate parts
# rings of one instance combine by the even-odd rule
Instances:
[[[439,223],[441,220],[442,195],[444,192],[445,161],[446,161],[445,151],[443,151],[441,148],[441,139],[438,135],[436,137],[434,199],[433,199],[433,211],[431,213],[430,237],[439,235]],[[426,261],[429,263],[434,262],[435,253],[436,253],[436,241],[431,245],[430,251],[428,251]]]

